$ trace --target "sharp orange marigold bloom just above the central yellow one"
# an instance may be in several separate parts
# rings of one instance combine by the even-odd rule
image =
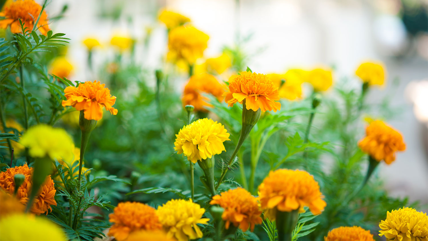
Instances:
[[[229,106],[245,100],[247,110],[262,111],[281,109],[278,87],[266,74],[256,74],[242,71],[229,82],[229,91],[224,93],[225,101]]]

